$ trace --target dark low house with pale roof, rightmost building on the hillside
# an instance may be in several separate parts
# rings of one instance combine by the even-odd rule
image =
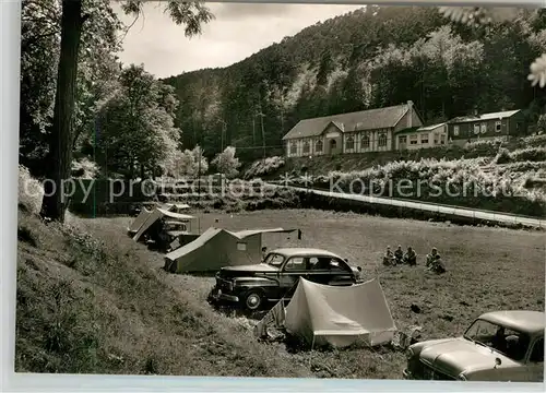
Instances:
[[[524,134],[525,117],[519,109],[459,117],[448,121],[449,142],[461,146],[476,140],[509,140]]]

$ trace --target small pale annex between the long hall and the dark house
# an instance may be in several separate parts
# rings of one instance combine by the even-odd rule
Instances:
[[[395,132],[395,150],[438,147],[448,143],[448,124],[414,127]]]

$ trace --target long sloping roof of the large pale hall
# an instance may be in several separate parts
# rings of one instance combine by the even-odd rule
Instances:
[[[324,129],[333,123],[342,132],[376,130],[395,127],[408,111],[413,103],[360,110],[349,114],[324,116],[313,119],[300,120],[284,135],[283,140],[300,139],[320,135]]]

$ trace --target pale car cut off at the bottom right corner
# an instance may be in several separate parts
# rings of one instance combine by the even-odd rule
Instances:
[[[542,382],[544,323],[541,311],[479,315],[462,337],[425,341],[407,349],[404,379]]]

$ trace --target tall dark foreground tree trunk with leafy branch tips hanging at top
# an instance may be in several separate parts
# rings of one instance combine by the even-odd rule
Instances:
[[[57,92],[54,108],[51,134],[49,138],[49,155],[46,183],[41,203],[41,216],[64,222],[67,201],[59,192],[64,179],[70,177],[72,160],[73,123],[76,98],[78,59],[82,29],[90,14],[83,13],[82,1],[62,0],[61,2],[61,39],[57,76]],[[140,15],[142,0],[128,0],[122,8],[126,13]],[[202,23],[207,23],[213,15],[201,2],[168,1],[166,10],[174,22],[186,26],[187,36],[201,33]]]

